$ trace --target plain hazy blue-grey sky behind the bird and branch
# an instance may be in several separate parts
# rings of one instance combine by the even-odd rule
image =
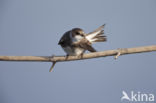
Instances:
[[[0,0],[0,55],[65,55],[64,32],[102,24],[98,51],[156,44],[155,0]],[[0,103],[120,103],[122,91],[156,96],[156,53],[57,63],[0,61]],[[125,101],[126,102],[126,101]]]

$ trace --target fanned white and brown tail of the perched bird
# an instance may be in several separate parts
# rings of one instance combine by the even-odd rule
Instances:
[[[99,28],[97,28],[96,30],[94,30],[91,33],[88,33],[86,35],[86,39],[90,42],[90,43],[94,43],[94,42],[104,42],[107,40],[106,36],[103,35],[104,34],[104,28],[105,24],[100,26]]]

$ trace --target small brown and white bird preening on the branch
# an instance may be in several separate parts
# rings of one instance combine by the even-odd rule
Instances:
[[[67,56],[80,56],[85,51],[96,52],[92,46],[96,42],[105,42],[107,40],[104,34],[105,24],[90,33],[85,33],[81,28],[73,28],[63,34],[58,42]]]

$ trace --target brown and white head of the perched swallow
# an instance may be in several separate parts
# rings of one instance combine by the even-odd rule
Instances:
[[[80,28],[72,29],[71,33],[72,33],[72,37],[75,38],[76,40],[80,40],[85,37],[84,31]]]

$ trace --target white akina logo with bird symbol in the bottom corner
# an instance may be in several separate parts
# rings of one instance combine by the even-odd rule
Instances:
[[[122,91],[121,101],[131,101],[131,102],[153,102],[154,94],[152,93],[141,93],[131,91],[129,94],[125,91]]]

